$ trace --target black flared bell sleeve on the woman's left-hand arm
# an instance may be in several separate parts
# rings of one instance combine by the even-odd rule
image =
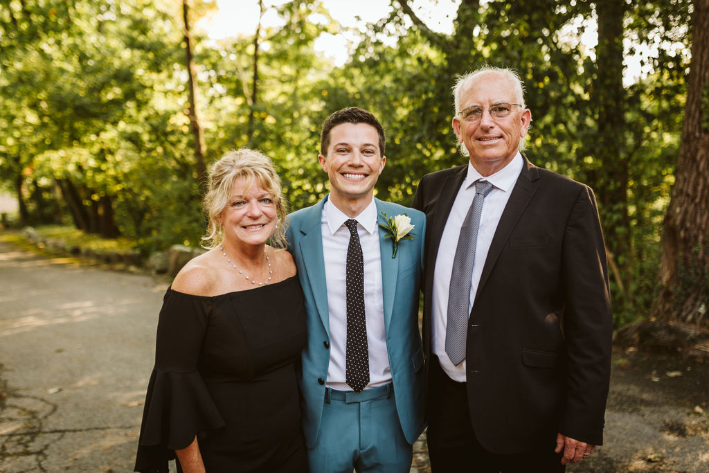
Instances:
[[[157,322],[155,367],[150,375],[140,427],[136,472],[167,473],[174,450],[189,446],[197,433],[225,425],[197,362],[213,306],[208,297],[172,289]]]

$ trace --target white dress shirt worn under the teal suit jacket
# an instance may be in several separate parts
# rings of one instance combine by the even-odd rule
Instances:
[[[323,256],[325,281],[328,288],[330,311],[330,365],[328,386],[340,391],[352,391],[345,382],[345,350],[347,347],[347,245],[350,230],[345,226],[349,219],[331,201],[323,205]],[[386,351],[384,330],[384,301],[381,290],[381,251],[379,226],[376,224],[374,199],[357,217],[357,234],[364,258],[364,313],[367,320],[367,346],[369,348],[369,384],[367,388],[391,382],[389,354]],[[365,388],[365,389],[367,389]]]

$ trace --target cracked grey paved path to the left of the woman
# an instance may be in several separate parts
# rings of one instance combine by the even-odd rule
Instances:
[[[0,241],[0,472],[130,472],[166,283]]]

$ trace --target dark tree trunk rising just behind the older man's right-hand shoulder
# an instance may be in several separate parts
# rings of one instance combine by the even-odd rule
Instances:
[[[596,182],[591,184],[601,206],[601,222],[609,257],[627,280],[632,274],[630,219],[627,187],[630,163],[625,147],[625,97],[623,87],[623,18],[625,0],[596,3],[598,13],[598,73],[593,84],[593,99],[598,107],[598,142],[594,155],[601,164]],[[619,287],[622,287],[619,285]],[[630,300],[631,294],[623,294]]]

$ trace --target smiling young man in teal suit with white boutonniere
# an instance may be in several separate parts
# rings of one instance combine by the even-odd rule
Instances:
[[[384,129],[362,108],[320,135],[330,194],[286,232],[308,312],[299,380],[311,472],[408,472],[424,428],[418,293],[425,216],[374,199]],[[399,226],[391,238],[386,216]],[[406,233],[406,216],[411,229]],[[396,231],[396,230],[394,230]]]

